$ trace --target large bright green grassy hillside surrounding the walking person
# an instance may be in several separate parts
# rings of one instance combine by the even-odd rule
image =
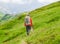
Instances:
[[[33,19],[34,32],[26,36],[24,17],[18,15],[14,19],[0,25],[0,44],[60,44],[60,2],[38,8],[30,12]]]

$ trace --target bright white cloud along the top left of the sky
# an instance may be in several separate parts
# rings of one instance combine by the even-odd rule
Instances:
[[[30,4],[32,0],[0,0],[3,3],[13,3],[13,4]]]

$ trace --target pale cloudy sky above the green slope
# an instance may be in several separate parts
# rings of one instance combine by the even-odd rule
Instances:
[[[31,11],[56,1],[59,0],[0,0],[0,11],[3,13],[17,14]]]

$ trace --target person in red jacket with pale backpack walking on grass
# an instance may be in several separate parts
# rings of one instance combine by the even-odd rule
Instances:
[[[26,32],[27,35],[29,35],[30,31],[31,31],[31,27],[32,27],[32,18],[30,17],[29,14],[26,15],[25,20],[24,20],[24,24],[26,26]]]

